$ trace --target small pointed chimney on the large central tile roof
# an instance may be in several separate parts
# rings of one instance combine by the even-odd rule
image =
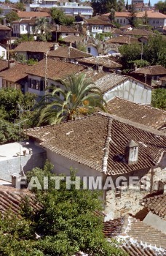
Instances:
[[[134,140],[130,140],[125,147],[125,160],[128,165],[138,162],[138,144]]]

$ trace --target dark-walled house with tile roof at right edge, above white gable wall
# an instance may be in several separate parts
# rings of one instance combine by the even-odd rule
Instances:
[[[166,75],[165,67],[161,65],[154,65],[148,67],[141,67],[136,69],[131,73],[134,78],[141,80],[145,83],[148,83],[150,86],[153,86],[153,81],[156,82],[159,78],[162,78]]]

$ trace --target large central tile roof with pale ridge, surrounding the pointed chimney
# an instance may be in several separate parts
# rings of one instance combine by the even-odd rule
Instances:
[[[44,148],[108,175],[157,165],[166,151],[166,136],[162,132],[107,113],[28,129],[27,135],[39,139]],[[138,162],[127,165],[125,146],[131,139],[139,145]]]

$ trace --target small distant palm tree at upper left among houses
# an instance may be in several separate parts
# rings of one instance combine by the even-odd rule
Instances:
[[[50,31],[51,25],[48,18],[42,17],[36,19],[35,28],[33,29],[36,34],[41,31],[41,34],[47,34]]]

